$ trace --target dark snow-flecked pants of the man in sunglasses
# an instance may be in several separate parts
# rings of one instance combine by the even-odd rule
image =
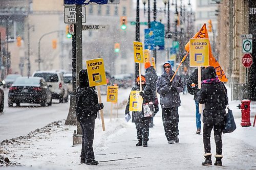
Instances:
[[[168,141],[179,135],[179,114],[178,107],[162,108],[162,119],[165,136]]]

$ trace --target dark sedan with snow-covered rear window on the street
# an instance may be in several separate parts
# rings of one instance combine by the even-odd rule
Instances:
[[[52,93],[43,78],[19,77],[15,80],[8,92],[8,106],[13,103],[20,106],[20,103],[36,103],[42,107],[52,105]]]

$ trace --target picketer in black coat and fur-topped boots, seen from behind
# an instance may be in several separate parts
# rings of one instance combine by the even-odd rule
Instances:
[[[210,133],[214,129],[216,143],[215,165],[222,166],[222,131],[226,122],[225,108],[228,105],[227,89],[216,75],[215,68],[206,67],[202,72],[202,88],[198,91],[198,102],[205,104],[203,111],[203,142],[205,161],[202,165],[211,165]]]

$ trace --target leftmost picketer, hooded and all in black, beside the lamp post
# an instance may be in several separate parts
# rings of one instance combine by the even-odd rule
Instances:
[[[79,72],[79,86],[76,89],[76,117],[82,130],[81,163],[97,165],[93,152],[95,119],[103,104],[98,102],[98,94],[89,86],[87,69]]]

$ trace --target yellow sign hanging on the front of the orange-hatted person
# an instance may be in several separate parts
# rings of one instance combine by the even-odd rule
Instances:
[[[130,103],[129,103],[129,111],[142,111],[143,99],[139,94],[140,91],[132,90],[130,93]]]

